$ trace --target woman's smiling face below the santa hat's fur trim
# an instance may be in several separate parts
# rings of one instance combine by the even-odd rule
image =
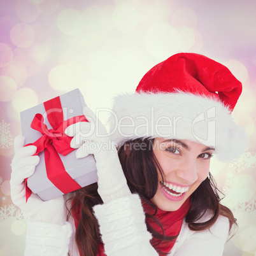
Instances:
[[[159,161],[164,178],[152,203],[164,211],[176,211],[204,181],[210,169],[214,148],[187,139],[155,138],[153,153]]]

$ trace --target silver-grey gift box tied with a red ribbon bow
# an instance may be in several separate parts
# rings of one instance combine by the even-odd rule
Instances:
[[[94,156],[76,159],[72,138],[64,134],[70,124],[87,122],[84,106],[80,90],[75,89],[20,113],[25,144],[36,145],[40,158],[27,187],[43,201],[97,182]]]

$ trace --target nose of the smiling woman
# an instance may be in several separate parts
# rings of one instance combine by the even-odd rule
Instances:
[[[183,162],[180,163],[180,166],[176,169],[176,176],[188,184],[196,182],[198,179],[196,160],[183,160]]]

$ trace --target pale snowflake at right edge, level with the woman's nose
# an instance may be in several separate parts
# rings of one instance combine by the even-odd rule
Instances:
[[[241,173],[246,168],[256,167],[256,153],[246,151],[239,159],[232,161],[229,167]]]

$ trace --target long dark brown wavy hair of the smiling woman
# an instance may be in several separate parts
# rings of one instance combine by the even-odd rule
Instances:
[[[120,163],[131,192],[139,194],[142,199],[152,206],[153,204],[150,202],[150,199],[157,192],[159,173],[162,176],[162,180],[164,180],[164,173],[152,150],[153,141],[154,139],[127,141],[118,150]],[[222,215],[229,219],[229,232],[231,234],[231,228],[237,226],[236,219],[229,208],[220,204],[219,193],[220,191],[213,177],[209,174],[208,178],[190,196],[191,206],[185,218],[189,229],[193,231],[209,229],[215,224],[219,215]],[[73,207],[78,206],[78,204],[82,206],[81,218],[75,236],[80,254],[97,255],[101,235],[99,234],[99,225],[96,217],[93,215],[92,207],[103,203],[101,197],[97,194],[97,184],[94,183],[77,190],[75,197],[72,199],[75,202]],[[206,222],[197,222],[208,210],[212,211],[212,217]],[[155,206],[156,212],[157,208]],[[69,211],[70,214],[71,211]],[[160,225],[160,222],[153,215],[146,213],[146,217],[153,218]],[[159,234],[148,223],[146,225],[153,238],[160,239],[161,241],[171,241],[174,239],[174,237],[165,236],[163,229],[162,234]],[[156,245],[153,239],[151,242],[153,246]]]

